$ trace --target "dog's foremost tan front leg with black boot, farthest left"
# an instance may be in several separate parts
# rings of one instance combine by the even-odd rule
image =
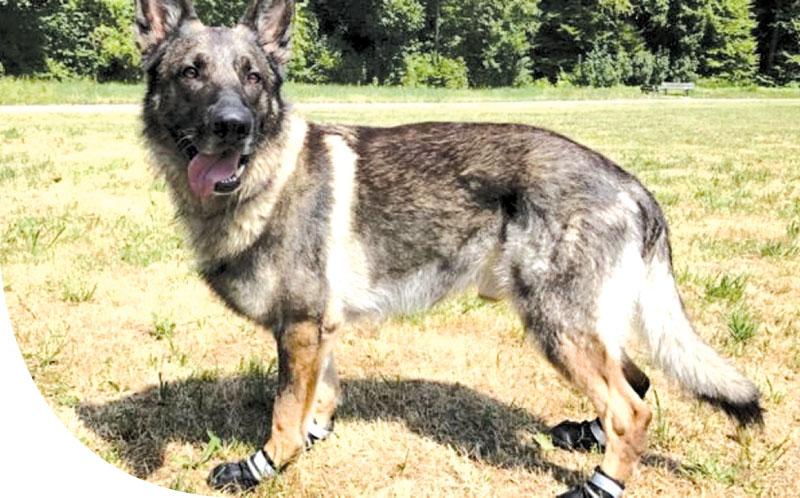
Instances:
[[[336,327],[303,322],[276,334],[278,393],[272,431],[264,448],[250,457],[215,468],[209,484],[216,489],[246,490],[291,463],[306,445],[317,384],[333,348]]]

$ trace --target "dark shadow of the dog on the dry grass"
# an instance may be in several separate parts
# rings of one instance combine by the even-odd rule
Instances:
[[[83,404],[84,423],[107,440],[138,477],[164,463],[173,441],[205,443],[209,432],[223,441],[264,442],[276,379],[253,374],[191,378],[153,386],[101,405]],[[400,421],[416,434],[496,467],[547,472],[574,485],[585,476],[548,462],[532,437],[547,430],[527,411],[459,384],[425,380],[364,379],[342,382],[339,420]],[[650,460],[650,462],[648,462]],[[645,463],[672,469],[655,455]]]

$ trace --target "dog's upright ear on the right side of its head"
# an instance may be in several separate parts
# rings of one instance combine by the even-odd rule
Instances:
[[[264,52],[285,65],[289,62],[293,16],[293,0],[251,0],[239,23],[255,31]]]

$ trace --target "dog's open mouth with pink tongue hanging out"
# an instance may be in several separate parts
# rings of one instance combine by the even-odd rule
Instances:
[[[228,195],[242,184],[249,156],[228,151],[222,154],[196,154],[189,162],[189,186],[201,199],[211,194]]]

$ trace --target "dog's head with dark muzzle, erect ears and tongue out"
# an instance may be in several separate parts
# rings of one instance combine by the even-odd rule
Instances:
[[[275,137],[292,0],[252,0],[233,28],[207,27],[191,0],[136,0],[147,73],[145,135],[200,199],[239,190],[251,154]]]

